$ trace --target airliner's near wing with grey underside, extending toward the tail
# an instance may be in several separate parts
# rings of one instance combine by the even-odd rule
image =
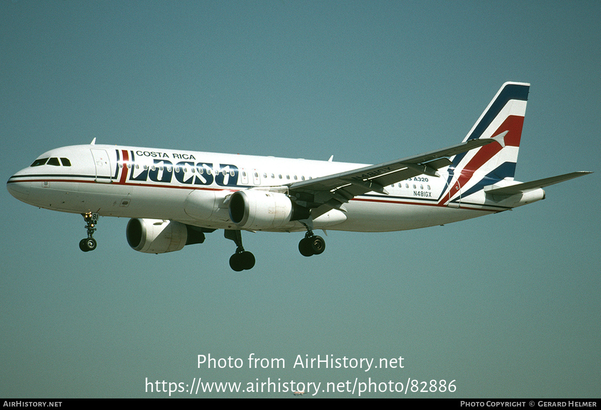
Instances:
[[[452,155],[480,148],[492,142],[504,145],[503,137],[507,132],[492,138],[468,140],[413,157],[293,182],[288,185],[289,194],[293,199],[296,198],[299,205],[311,208],[311,216],[314,219],[331,209],[346,211],[343,204],[355,196],[370,191],[388,194],[384,188],[386,185],[422,174],[437,175],[437,169],[451,164],[448,157]]]

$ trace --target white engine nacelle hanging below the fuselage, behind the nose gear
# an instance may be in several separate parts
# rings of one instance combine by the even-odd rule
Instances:
[[[204,242],[203,232],[163,219],[130,219],[126,235],[130,247],[145,253],[172,252],[185,245]]]

